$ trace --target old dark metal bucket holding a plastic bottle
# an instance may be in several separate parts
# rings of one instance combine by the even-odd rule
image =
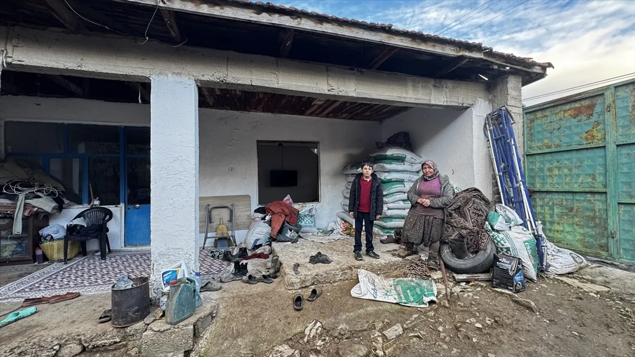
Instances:
[[[150,284],[145,276],[131,278],[132,288],[115,290],[110,286],[110,325],[128,327],[143,321],[150,314]]]

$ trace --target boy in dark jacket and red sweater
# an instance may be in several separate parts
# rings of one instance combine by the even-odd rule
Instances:
[[[373,163],[364,161],[361,164],[361,173],[358,173],[351,185],[351,197],[349,197],[349,212],[355,219],[355,246],[353,253],[355,260],[364,260],[361,257],[361,227],[366,230],[366,255],[373,259],[379,259],[373,247],[373,222],[382,215],[384,210],[384,191],[377,175],[373,173]]]

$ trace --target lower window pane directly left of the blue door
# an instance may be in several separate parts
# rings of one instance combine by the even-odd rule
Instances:
[[[119,158],[88,158],[88,182],[100,205],[119,205]]]

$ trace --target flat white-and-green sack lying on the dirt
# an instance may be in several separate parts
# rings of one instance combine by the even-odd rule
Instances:
[[[386,279],[364,269],[358,269],[358,278],[352,297],[415,307],[427,307],[428,302],[436,301],[436,284],[432,280]]]

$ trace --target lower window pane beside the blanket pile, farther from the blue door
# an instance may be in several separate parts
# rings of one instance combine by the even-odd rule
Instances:
[[[83,160],[79,158],[52,158],[49,160],[49,173],[62,182],[65,197],[71,202],[83,203]]]

